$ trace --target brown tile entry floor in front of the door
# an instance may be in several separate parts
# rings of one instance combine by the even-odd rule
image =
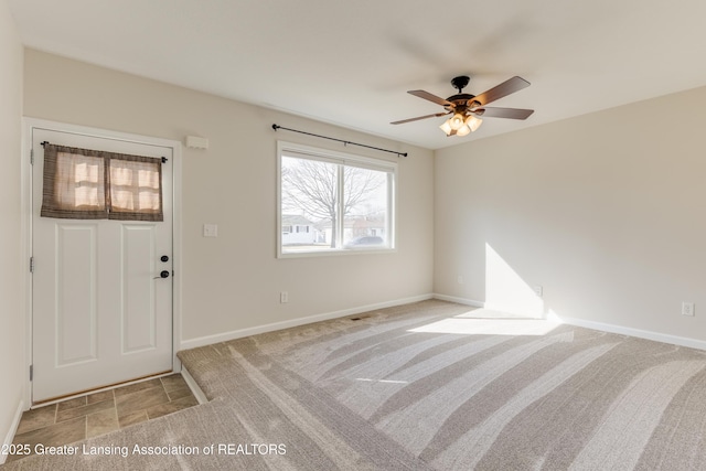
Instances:
[[[199,402],[181,374],[67,399],[22,414],[13,443],[62,446],[165,416]],[[8,456],[7,462],[24,458]]]

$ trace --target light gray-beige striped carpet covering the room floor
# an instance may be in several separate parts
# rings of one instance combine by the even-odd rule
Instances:
[[[7,469],[706,469],[706,352],[442,301],[359,317],[180,352],[211,403],[78,443],[127,458]]]

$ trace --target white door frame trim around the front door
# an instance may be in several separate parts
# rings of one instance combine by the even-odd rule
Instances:
[[[169,147],[172,149],[172,371],[181,372],[181,362],[176,357],[176,352],[181,349],[181,324],[182,324],[182,224],[181,224],[181,194],[182,194],[182,143],[178,140],[154,138],[142,135],[114,131],[109,129],[93,128],[88,126],[69,125],[65,122],[51,121],[46,119],[22,118],[22,243],[24,259],[28,270],[25,271],[25,376],[24,404],[25,410],[33,407],[32,404],[32,381],[30,379],[30,367],[33,364],[33,283],[32,274],[29,270],[30,258],[33,255],[33,227],[32,227],[32,133],[34,129],[45,129],[58,132],[84,135],[94,138],[116,139],[130,142],[138,142],[151,146]],[[44,405],[44,404],[42,404]]]

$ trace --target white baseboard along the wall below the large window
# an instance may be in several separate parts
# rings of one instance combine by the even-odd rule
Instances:
[[[408,304],[410,302],[426,301],[434,299],[435,295],[421,295],[411,298],[397,299],[395,301],[378,302],[375,304],[361,306],[357,308],[343,309],[341,311],[327,312],[323,314],[308,315],[306,318],[291,319],[288,321],[272,322],[265,325],[256,325],[254,328],[239,329],[231,332],[218,333],[215,335],[200,336],[196,339],[182,340],[178,350],[189,350],[199,346],[211,345],[229,340],[242,339],[244,336],[257,335],[259,333],[272,332],[276,330],[296,328],[299,325],[311,324],[313,322],[328,321],[331,319],[344,318],[346,315],[360,314],[376,309],[392,308],[395,306]]]

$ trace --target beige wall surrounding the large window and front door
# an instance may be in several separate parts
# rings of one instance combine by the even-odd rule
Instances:
[[[184,340],[431,292],[431,151],[32,50],[25,51],[24,78],[29,117],[175,140],[210,139],[207,151],[183,150],[183,272],[178,276]],[[274,122],[409,157],[275,132]],[[277,139],[398,160],[398,250],[277,259]],[[218,238],[202,237],[204,223],[218,224]],[[285,290],[289,303],[280,304]]]

